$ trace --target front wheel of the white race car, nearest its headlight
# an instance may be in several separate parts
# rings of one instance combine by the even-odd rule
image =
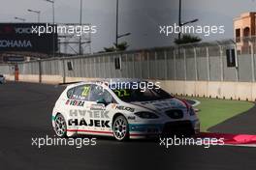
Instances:
[[[112,133],[118,141],[125,141],[129,138],[129,125],[124,116],[118,116],[114,119]]]

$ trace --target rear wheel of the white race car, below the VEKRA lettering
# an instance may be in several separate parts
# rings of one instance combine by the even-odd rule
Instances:
[[[54,131],[58,137],[67,137],[67,124],[62,114],[57,114],[55,117]]]

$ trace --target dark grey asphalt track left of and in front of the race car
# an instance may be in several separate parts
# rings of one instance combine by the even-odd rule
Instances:
[[[74,146],[45,146],[38,149],[31,145],[31,138],[54,135],[50,123],[51,109],[62,90],[61,86],[32,83],[8,82],[0,85],[0,169],[256,168],[256,148],[246,147],[214,146],[205,149],[179,146],[166,149],[159,146],[158,140],[120,143],[112,138],[101,137],[97,138],[96,146],[84,146],[81,149]],[[249,121],[255,122],[255,119]]]

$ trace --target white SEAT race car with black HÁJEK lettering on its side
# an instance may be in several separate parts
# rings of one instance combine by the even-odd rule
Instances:
[[[106,135],[119,141],[200,130],[199,119],[186,101],[137,79],[68,85],[53,108],[52,126],[59,137]]]

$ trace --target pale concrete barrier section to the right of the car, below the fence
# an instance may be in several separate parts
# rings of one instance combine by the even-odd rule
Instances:
[[[255,101],[256,83],[228,81],[159,81],[169,93],[218,99],[240,99]]]

